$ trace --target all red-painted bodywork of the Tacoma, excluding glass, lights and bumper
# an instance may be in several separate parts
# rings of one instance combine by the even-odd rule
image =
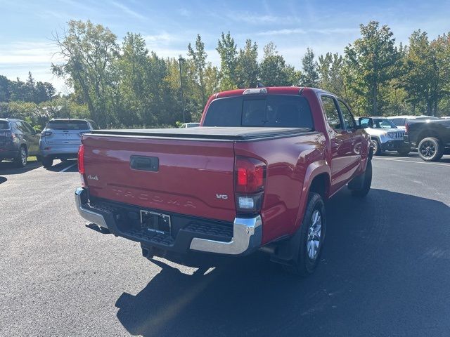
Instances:
[[[242,95],[244,89],[212,95]],[[236,217],[234,161],[253,157],[266,163],[262,244],[293,234],[302,223],[311,181],[325,175],[330,197],[365,170],[369,138],[364,130],[336,133],[328,126],[319,95],[311,88],[267,88],[268,94],[303,95],[315,132],[262,140],[199,140],[85,135],[84,181],[91,195],[145,208],[232,222]],[[327,93],[326,93],[327,94]],[[158,172],[130,168],[130,156],[158,157]],[[98,176],[90,180],[88,176]],[[217,195],[226,195],[227,199]]]

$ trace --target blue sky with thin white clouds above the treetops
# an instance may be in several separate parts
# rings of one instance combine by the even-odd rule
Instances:
[[[200,34],[208,59],[219,65],[215,51],[221,32],[231,32],[238,47],[252,39],[262,47],[274,41],[295,67],[307,47],[316,55],[342,53],[359,37],[359,24],[378,20],[391,27],[397,42],[407,43],[415,29],[431,39],[450,31],[450,1],[139,1],[139,0],[0,0],[0,74],[25,79],[30,70],[38,81],[51,81],[67,92],[49,68],[58,62],[51,44],[70,19],[91,20],[109,27],[119,41],[139,32],[160,56],[186,54]]]

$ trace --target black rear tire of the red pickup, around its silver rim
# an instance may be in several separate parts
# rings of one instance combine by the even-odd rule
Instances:
[[[319,213],[320,218],[320,230],[316,231],[317,226],[314,227],[313,216],[315,216],[316,211]],[[316,225],[318,224],[316,220]],[[298,247],[298,255],[295,260],[291,261],[289,265],[283,265],[283,269],[290,274],[299,275],[302,277],[307,277],[311,275],[314,270],[316,270],[319,260],[321,258],[321,253],[323,250],[323,242],[325,240],[326,232],[326,213],[325,204],[320,194],[315,192],[309,192],[308,204],[306,211],[304,212],[304,217],[302,224],[300,225],[300,246]],[[317,233],[319,232],[319,236]],[[311,242],[311,236],[313,240]],[[314,240],[319,238],[319,240]],[[314,242],[319,242],[319,246],[316,247]],[[311,258],[312,250],[309,248],[316,247],[314,257]]]

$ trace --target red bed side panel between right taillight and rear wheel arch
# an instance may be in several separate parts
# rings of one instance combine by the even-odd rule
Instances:
[[[266,162],[262,205],[262,244],[293,234],[302,221],[299,214],[309,164],[325,158],[323,133],[236,143],[235,154]]]

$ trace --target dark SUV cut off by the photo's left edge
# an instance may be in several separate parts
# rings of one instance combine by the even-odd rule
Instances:
[[[0,119],[0,161],[12,159],[19,167],[39,153],[39,133],[26,121]]]

